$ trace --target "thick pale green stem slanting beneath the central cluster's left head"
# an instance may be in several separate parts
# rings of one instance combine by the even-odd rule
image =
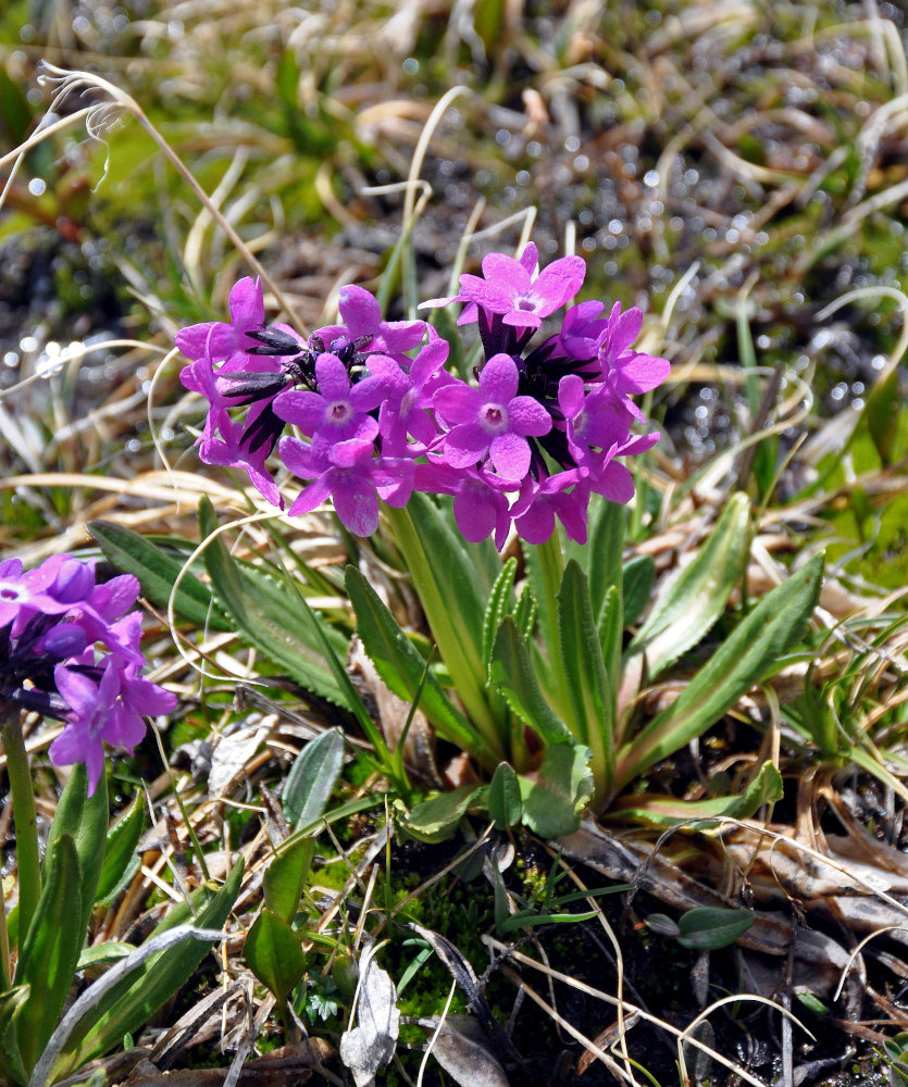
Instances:
[[[506,754],[502,737],[486,697],[480,647],[465,632],[458,628],[450,601],[445,599],[441,586],[435,576],[432,555],[426,552],[409,511],[406,508],[395,510],[389,507],[387,513],[397,546],[407,563],[413,587],[428,621],[432,637],[451,677],[453,688],[482,737],[484,746],[492,751],[495,765],[501,762]]]

